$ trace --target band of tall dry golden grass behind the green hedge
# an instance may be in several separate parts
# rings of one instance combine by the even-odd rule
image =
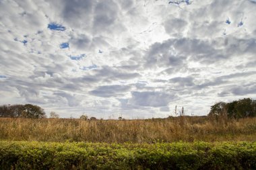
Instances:
[[[213,120],[178,117],[152,120],[0,118],[0,140],[48,142],[255,141],[256,118]]]

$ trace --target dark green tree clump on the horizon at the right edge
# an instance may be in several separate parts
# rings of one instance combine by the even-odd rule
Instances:
[[[212,105],[209,116],[246,118],[256,116],[256,100],[245,98],[230,103],[219,102]]]

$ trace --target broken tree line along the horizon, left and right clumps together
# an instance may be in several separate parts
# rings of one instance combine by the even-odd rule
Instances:
[[[225,116],[228,118],[247,118],[256,116],[256,100],[244,98],[225,103],[220,101],[211,106],[208,116]],[[46,118],[45,112],[38,105],[0,105],[0,117],[9,118]],[[51,112],[50,118],[59,118],[55,112]],[[88,116],[82,115],[82,120],[88,120]],[[120,118],[119,118],[120,119]],[[92,117],[90,120],[96,120]]]

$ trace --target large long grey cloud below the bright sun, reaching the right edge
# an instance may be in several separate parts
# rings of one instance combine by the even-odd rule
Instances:
[[[213,64],[222,60],[225,61],[233,55],[254,54],[255,48],[252,48],[253,46],[256,46],[255,39],[169,39],[161,44],[155,43],[150,47],[146,55],[146,63],[148,65],[156,63],[159,67],[164,65],[179,66],[187,61],[186,57],[189,57],[189,60]]]

